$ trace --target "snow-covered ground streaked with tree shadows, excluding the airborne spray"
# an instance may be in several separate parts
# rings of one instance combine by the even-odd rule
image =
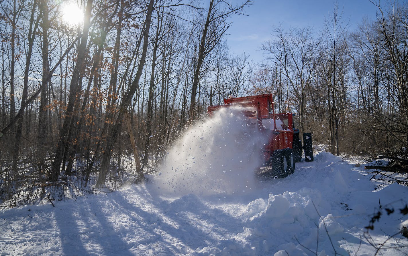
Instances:
[[[293,175],[257,179],[239,194],[172,198],[155,184],[129,185],[55,207],[0,210],[0,255],[334,255],[328,234],[341,255],[374,255],[364,226],[380,200],[396,213],[383,214],[370,236],[378,244],[397,233],[408,190],[373,192],[361,168],[320,151]],[[408,254],[407,238],[395,237],[403,239],[382,255]]]

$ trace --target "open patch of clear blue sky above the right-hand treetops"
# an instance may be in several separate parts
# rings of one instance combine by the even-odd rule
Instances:
[[[350,19],[349,31],[357,28],[366,17],[374,19],[377,7],[368,0],[338,0],[339,10],[344,10],[344,18]],[[259,46],[271,38],[273,26],[304,27],[313,26],[319,31],[325,17],[333,12],[334,1],[331,0],[254,0],[245,9],[248,16],[235,15],[227,31],[228,45],[231,53],[248,53],[255,62],[262,61]]]

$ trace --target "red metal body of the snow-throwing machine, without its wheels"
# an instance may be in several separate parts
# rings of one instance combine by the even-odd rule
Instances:
[[[257,125],[257,131],[264,135],[262,138],[266,138],[263,155],[265,162],[272,157],[273,151],[277,149],[292,149],[293,114],[275,114],[272,94],[226,98],[224,105],[208,107],[208,115],[211,116],[222,107],[232,106],[244,107],[244,115],[248,119],[254,119],[253,123]]]

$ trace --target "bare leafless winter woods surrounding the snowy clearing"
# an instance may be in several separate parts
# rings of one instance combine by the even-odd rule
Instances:
[[[273,93],[334,155],[407,154],[406,2],[356,30],[336,3],[321,28],[275,24],[262,63],[226,42],[251,4],[1,0],[1,207],[140,182],[231,94]]]

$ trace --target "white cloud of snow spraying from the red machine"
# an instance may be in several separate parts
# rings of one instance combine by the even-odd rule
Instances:
[[[162,193],[245,193],[255,186],[263,144],[240,107],[221,108],[189,128],[169,150],[154,182]],[[262,145],[262,146],[261,146]]]

